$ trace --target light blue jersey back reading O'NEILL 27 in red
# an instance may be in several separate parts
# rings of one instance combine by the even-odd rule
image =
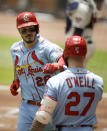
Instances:
[[[96,124],[95,112],[102,93],[102,78],[85,68],[69,68],[53,76],[46,84],[45,95],[57,101],[54,125]]]

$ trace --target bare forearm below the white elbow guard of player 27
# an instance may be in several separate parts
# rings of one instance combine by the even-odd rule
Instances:
[[[33,121],[30,131],[42,131],[42,129],[45,127],[44,124],[40,123],[36,119]]]

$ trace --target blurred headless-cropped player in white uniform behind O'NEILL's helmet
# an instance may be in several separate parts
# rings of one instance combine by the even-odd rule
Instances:
[[[84,65],[94,55],[95,44],[92,39],[94,24],[103,0],[68,0],[66,9],[66,37],[83,36],[87,43],[87,55]]]

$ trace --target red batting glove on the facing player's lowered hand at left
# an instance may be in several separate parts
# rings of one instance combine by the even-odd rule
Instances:
[[[20,86],[19,80],[18,79],[14,80],[12,85],[10,86],[10,92],[13,96],[18,95],[17,89],[19,88],[19,86]]]

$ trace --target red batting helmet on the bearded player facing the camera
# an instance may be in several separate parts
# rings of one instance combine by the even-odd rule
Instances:
[[[39,32],[39,24],[36,16],[31,12],[22,12],[17,16],[17,28],[22,28],[26,26],[37,25]]]

